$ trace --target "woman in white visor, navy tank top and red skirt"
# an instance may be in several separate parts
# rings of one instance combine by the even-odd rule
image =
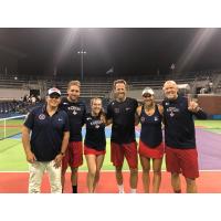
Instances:
[[[162,106],[155,103],[154,91],[146,87],[143,91],[144,104],[137,107],[137,115],[141,124],[139,139],[139,158],[143,167],[144,191],[149,192],[150,159],[152,159],[152,192],[159,192],[161,182],[161,164],[164,157],[162,143]]]

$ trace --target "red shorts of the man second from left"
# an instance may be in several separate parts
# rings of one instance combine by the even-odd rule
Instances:
[[[66,148],[65,156],[62,159],[62,170],[77,168],[83,165],[83,147],[82,141],[71,141]]]

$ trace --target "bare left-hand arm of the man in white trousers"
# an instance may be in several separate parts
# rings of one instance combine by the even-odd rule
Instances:
[[[27,155],[27,161],[33,164],[36,158],[34,154],[31,151],[31,144],[30,144],[30,129],[25,126],[22,127],[22,144],[24,148],[24,152]]]

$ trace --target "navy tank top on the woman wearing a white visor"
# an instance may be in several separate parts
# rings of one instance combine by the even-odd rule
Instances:
[[[150,148],[160,145],[162,141],[162,116],[159,113],[158,106],[155,106],[155,113],[151,116],[146,114],[143,106],[139,120],[141,124],[140,140]]]

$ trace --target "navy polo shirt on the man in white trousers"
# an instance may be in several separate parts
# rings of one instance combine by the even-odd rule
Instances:
[[[38,161],[51,161],[61,151],[64,131],[70,130],[69,117],[57,109],[50,116],[45,106],[34,108],[24,123],[31,129],[31,151]]]

